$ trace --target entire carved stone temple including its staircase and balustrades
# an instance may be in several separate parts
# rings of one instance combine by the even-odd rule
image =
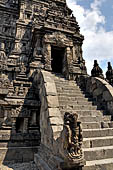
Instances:
[[[0,0],[0,170],[113,170],[113,69],[83,40],[66,0]]]

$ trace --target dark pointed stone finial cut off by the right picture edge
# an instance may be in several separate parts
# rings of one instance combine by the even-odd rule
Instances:
[[[108,70],[106,72],[106,79],[111,85],[113,85],[113,69],[112,69],[110,62],[108,62]]]

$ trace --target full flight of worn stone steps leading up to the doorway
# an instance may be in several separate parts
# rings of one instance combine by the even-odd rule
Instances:
[[[93,98],[77,86],[75,81],[55,75],[54,81],[62,116],[78,113],[83,129],[83,151],[86,165],[83,170],[113,169],[113,123],[105,110],[93,104]],[[106,113],[106,114],[105,114]]]

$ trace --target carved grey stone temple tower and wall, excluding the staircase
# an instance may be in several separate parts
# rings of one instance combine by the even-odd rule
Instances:
[[[83,40],[65,0],[0,0],[0,146],[11,147],[0,162],[33,160],[41,140],[34,73],[85,75]]]

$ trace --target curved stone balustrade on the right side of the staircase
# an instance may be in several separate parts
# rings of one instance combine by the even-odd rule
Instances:
[[[86,93],[92,95],[96,103],[113,115],[113,87],[104,79],[91,76],[79,76],[77,84]]]

